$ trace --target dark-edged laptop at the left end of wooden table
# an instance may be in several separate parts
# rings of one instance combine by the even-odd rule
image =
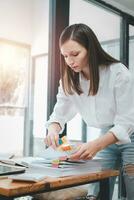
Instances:
[[[24,167],[16,167],[16,166],[0,164],[0,176],[9,174],[19,174],[24,172],[25,172]]]

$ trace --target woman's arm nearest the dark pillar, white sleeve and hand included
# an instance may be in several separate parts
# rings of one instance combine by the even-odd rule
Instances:
[[[53,113],[49,120],[46,122],[46,128],[48,129],[45,143],[48,146],[56,148],[59,144],[59,133],[64,130],[64,125],[76,115],[76,108],[70,100],[69,95],[65,95],[62,83],[57,94],[57,102],[54,106]]]

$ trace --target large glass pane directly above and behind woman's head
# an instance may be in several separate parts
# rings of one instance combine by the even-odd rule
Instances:
[[[70,24],[87,24],[95,32],[99,41],[103,45],[107,43],[112,44],[110,45],[112,49],[114,48],[113,44],[117,41],[119,42],[120,39],[120,19],[120,16],[90,2],[84,0],[73,0],[70,2]],[[110,50],[109,53],[111,52],[114,51]],[[119,52],[118,45],[117,58],[119,58]]]

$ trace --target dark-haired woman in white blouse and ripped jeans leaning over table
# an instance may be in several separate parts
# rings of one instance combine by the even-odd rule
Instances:
[[[85,24],[66,27],[60,36],[61,81],[57,103],[47,122],[45,142],[58,146],[65,123],[79,113],[88,126],[101,129],[101,135],[79,146],[71,159],[108,160],[105,167],[115,168],[122,161],[127,197],[134,199],[134,93],[128,69],[101,47]],[[128,184],[129,183],[129,184]],[[129,186],[128,186],[129,185]],[[96,199],[97,184],[90,187],[87,199]],[[111,199],[114,179],[111,179]],[[93,196],[92,196],[93,195]],[[86,197],[85,197],[86,199]]]

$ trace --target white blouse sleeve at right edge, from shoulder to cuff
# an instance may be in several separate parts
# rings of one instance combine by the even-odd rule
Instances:
[[[134,132],[134,89],[131,74],[124,65],[116,75],[114,95],[116,115],[110,131],[119,140],[117,144],[129,143]]]

